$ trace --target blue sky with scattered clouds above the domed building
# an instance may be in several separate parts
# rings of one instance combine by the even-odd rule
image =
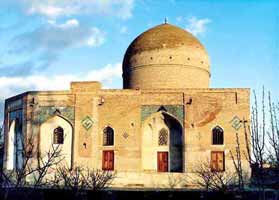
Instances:
[[[278,101],[278,10],[277,0],[0,0],[0,121],[4,99],[25,91],[122,88],[128,45],[165,18],[207,49],[210,87],[264,86]]]

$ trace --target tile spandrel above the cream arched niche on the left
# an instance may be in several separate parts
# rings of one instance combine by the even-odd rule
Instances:
[[[38,111],[35,113],[36,123],[43,123],[48,118],[59,114],[63,117],[65,117],[67,120],[71,122],[71,124],[74,124],[75,120],[75,111],[74,107],[55,107],[55,106],[40,106]]]

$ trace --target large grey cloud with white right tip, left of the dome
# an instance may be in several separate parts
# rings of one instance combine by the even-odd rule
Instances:
[[[16,76],[46,69],[65,49],[99,47],[105,42],[105,33],[97,27],[81,25],[77,19],[58,24],[49,20],[46,25],[15,36],[9,55],[23,55],[23,63],[0,64],[1,74]]]

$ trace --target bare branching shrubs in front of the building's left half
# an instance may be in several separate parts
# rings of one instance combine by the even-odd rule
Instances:
[[[40,189],[62,189],[78,198],[85,190],[99,191],[114,179],[115,173],[88,168],[67,168],[61,154],[62,146],[52,145],[44,156],[35,151],[34,138],[23,144],[22,166],[13,170],[0,170],[0,199],[9,199],[20,193],[22,199],[30,199]]]

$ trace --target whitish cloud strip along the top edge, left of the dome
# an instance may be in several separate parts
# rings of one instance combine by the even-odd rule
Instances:
[[[112,15],[122,19],[132,16],[134,0],[24,0],[27,13],[47,18],[79,14]]]

